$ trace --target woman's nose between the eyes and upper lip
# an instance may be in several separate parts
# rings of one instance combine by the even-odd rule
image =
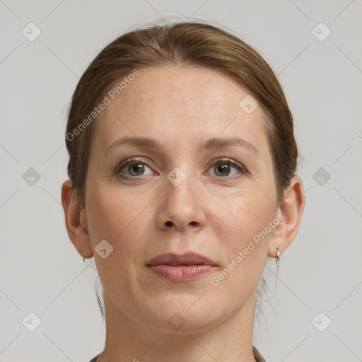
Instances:
[[[197,182],[192,182],[191,176],[186,176],[180,184],[170,180],[165,180],[165,192],[160,195],[158,227],[162,230],[174,228],[180,231],[204,228],[206,206]]]

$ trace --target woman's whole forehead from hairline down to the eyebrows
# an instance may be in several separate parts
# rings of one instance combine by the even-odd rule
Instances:
[[[115,81],[108,91],[121,81]],[[248,114],[240,107],[240,101],[250,96],[233,78],[212,69],[141,68],[134,80],[118,88],[114,100],[108,95],[110,104],[96,119],[93,143],[102,151],[121,136],[137,135],[173,144],[180,141],[187,147],[200,138],[222,134],[240,136],[265,148],[262,108]]]

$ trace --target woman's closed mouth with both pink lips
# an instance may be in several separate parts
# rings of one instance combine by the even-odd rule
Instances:
[[[194,252],[182,255],[175,253],[158,255],[146,266],[162,279],[175,282],[197,279],[217,267],[208,257]]]

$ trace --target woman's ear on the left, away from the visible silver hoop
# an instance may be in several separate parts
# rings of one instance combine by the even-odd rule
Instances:
[[[93,250],[88,233],[86,209],[78,204],[71,180],[66,180],[62,185],[62,205],[66,230],[71,243],[82,257],[92,257]]]

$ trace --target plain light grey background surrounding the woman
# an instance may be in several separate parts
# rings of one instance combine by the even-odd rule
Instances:
[[[211,21],[255,47],[295,118],[305,211],[278,276],[267,262],[267,323],[253,344],[269,362],[362,361],[361,13],[361,0],[0,0],[0,361],[89,361],[103,349],[97,274],[60,203],[66,108],[100,49],[162,17]],[[42,32],[33,42],[30,22]],[[33,332],[29,313],[41,320]]]

